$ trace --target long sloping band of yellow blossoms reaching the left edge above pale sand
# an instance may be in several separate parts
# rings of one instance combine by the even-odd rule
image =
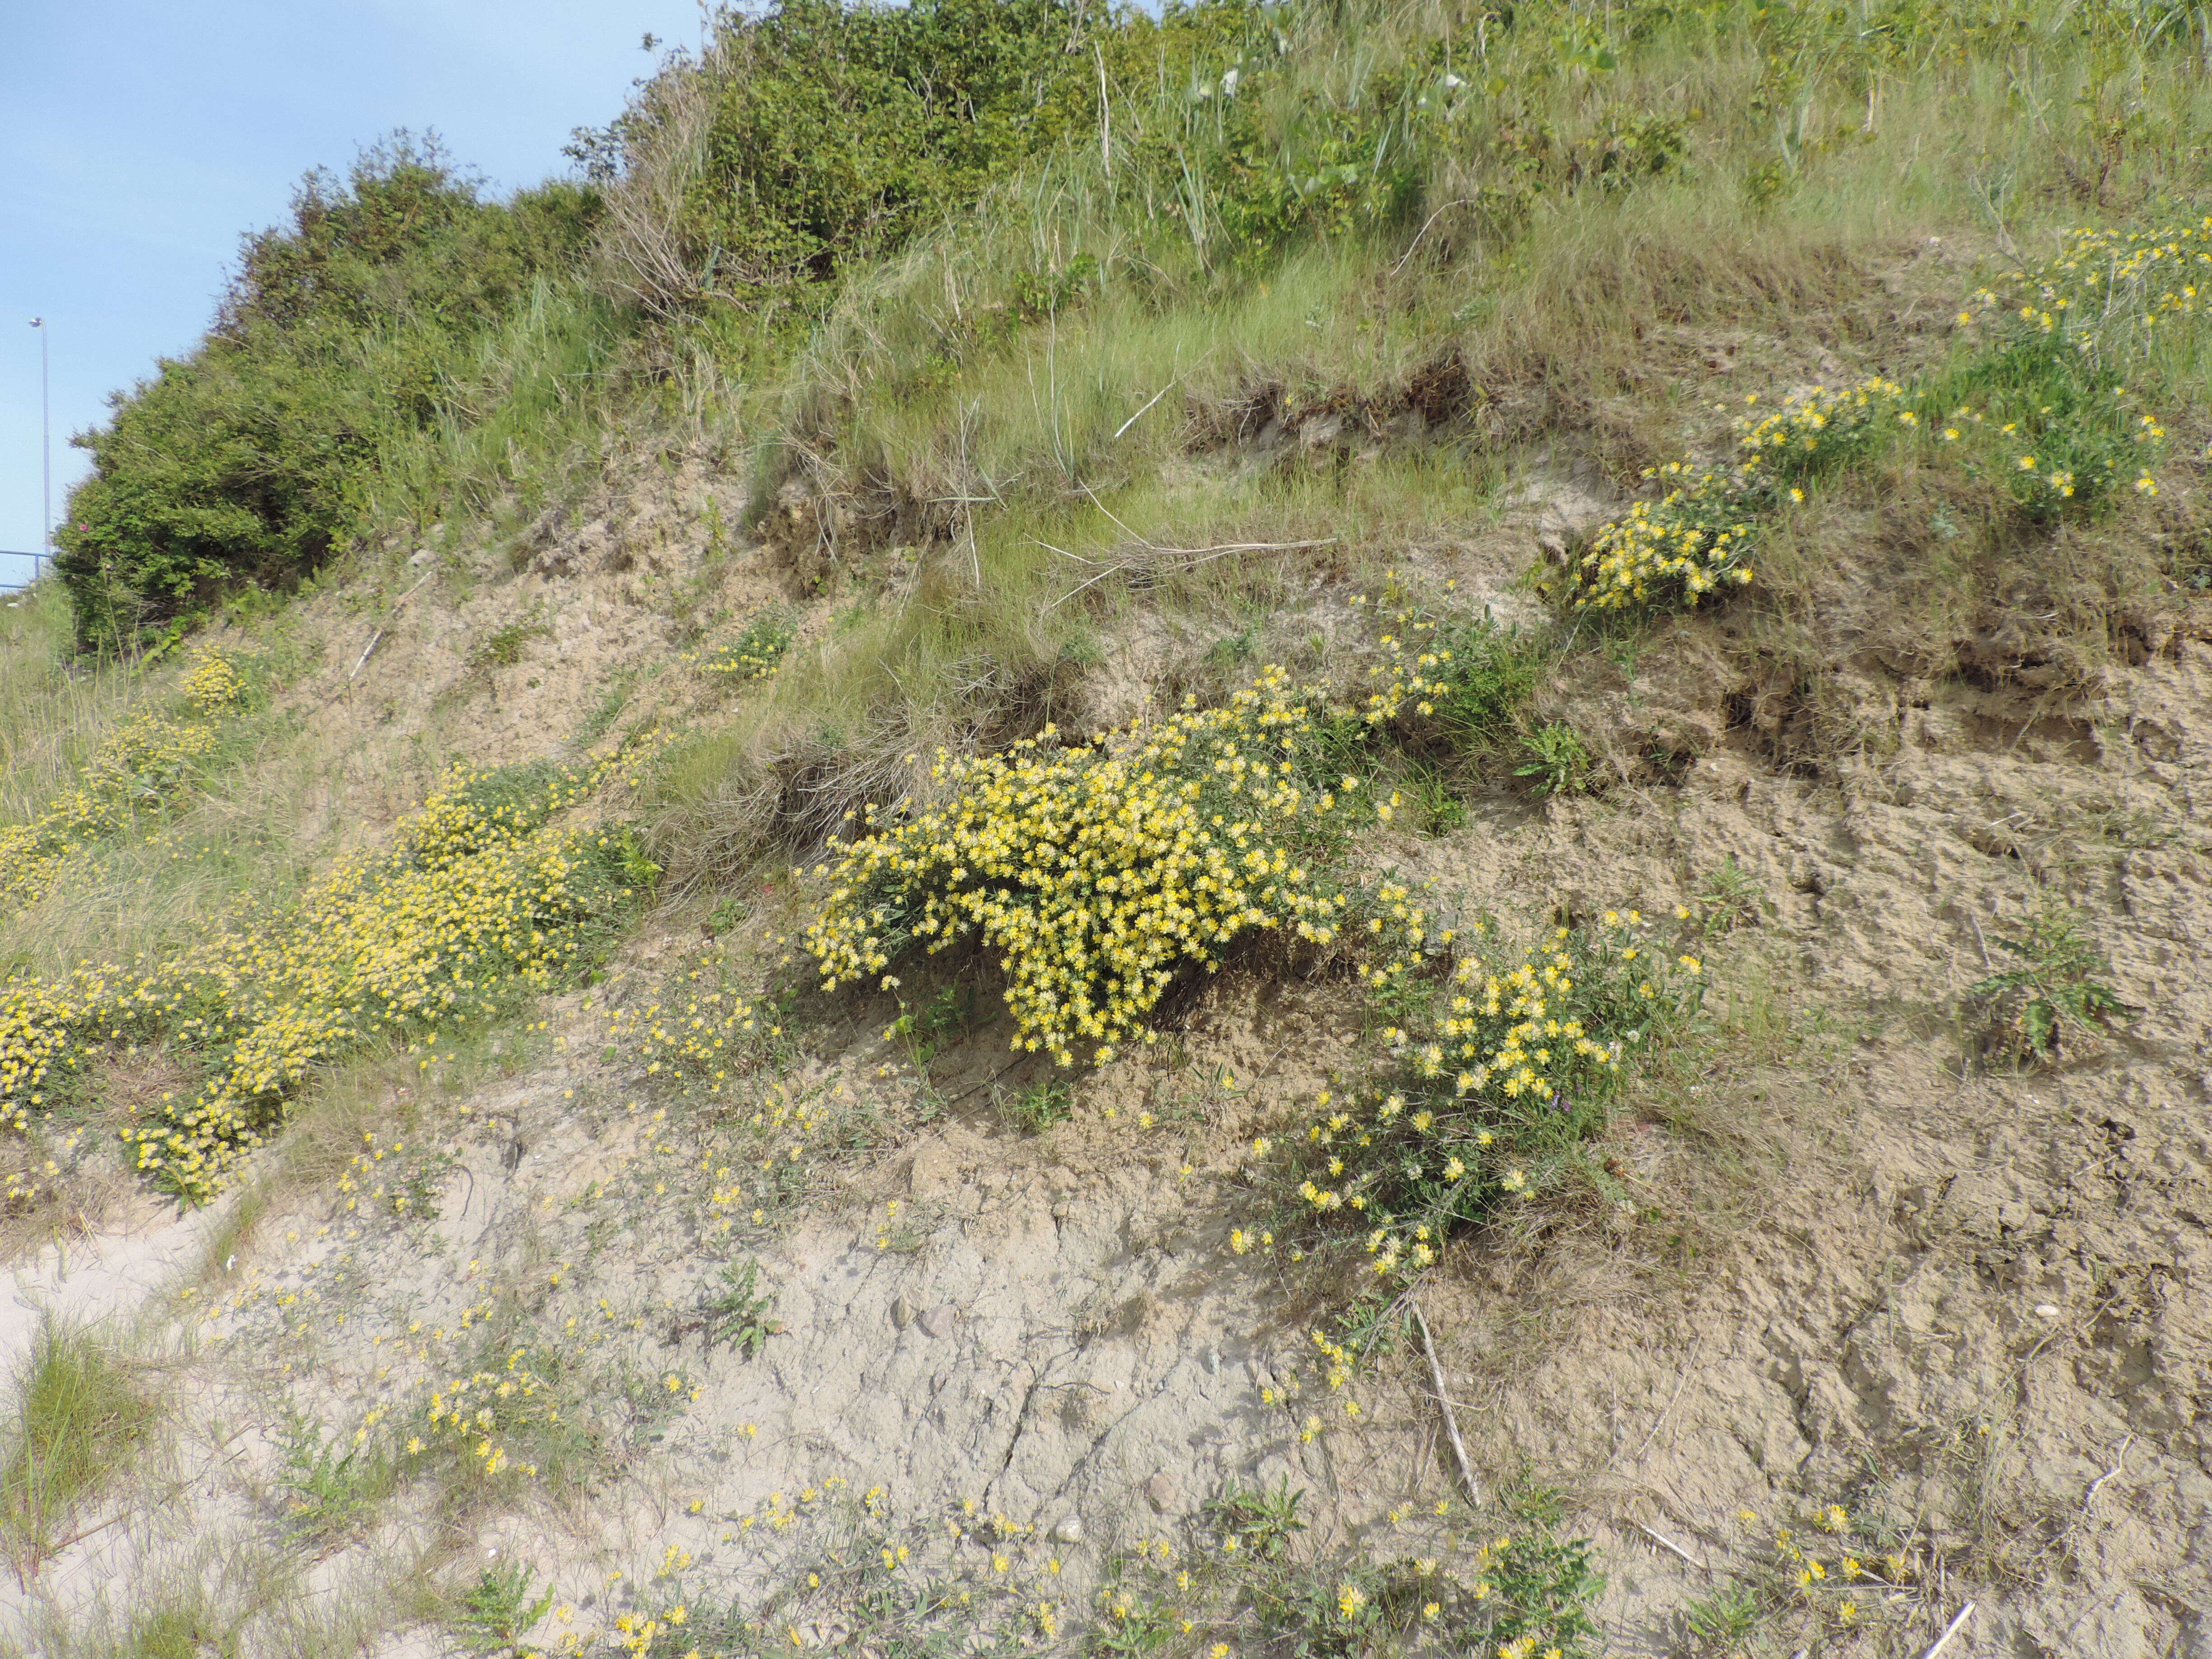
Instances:
[[[166,1040],[197,1053],[208,1082],[124,1137],[164,1188],[212,1194],[312,1068],[365,1042],[436,1042],[575,967],[626,894],[624,847],[553,818],[622,763],[449,772],[389,852],[343,860],[281,909],[159,960],[11,975],[0,1113],[22,1128],[108,1040]]]

